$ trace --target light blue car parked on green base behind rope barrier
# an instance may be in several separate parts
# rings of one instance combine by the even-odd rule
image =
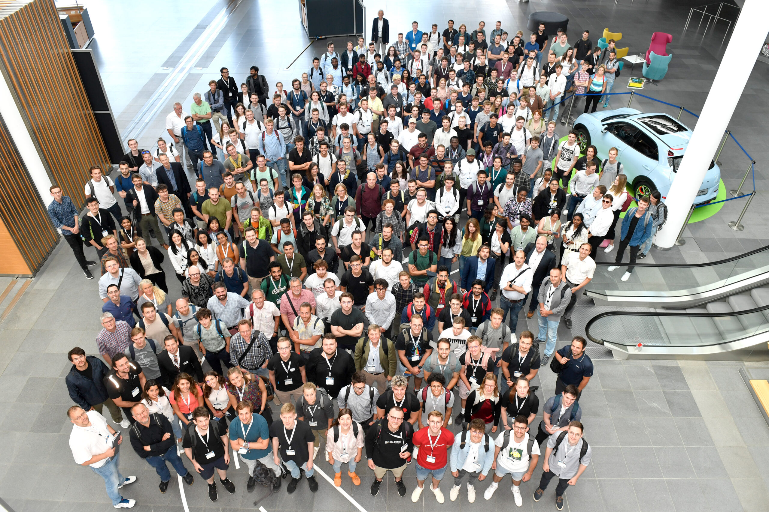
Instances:
[[[659,190],[664,199],[684,157],[691,130],[667,114],[642,113],[634,108],[582,114],[574,121],[581,152],[591,144],[598,148],[599,162],[611,147],[619,150],[635,197]],[[718,193],[721,170],[711,161],[694,204],[712,201]]]

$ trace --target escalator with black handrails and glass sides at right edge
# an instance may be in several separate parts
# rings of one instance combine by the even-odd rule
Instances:
[[[604,312],[585,327],[615,358],[769,360],[769,247],[699,265],[598,264],[587,295]],[[632,309],[632,310],[631,310]]]

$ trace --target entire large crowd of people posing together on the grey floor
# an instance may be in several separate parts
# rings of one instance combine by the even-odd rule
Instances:
[[[163,493],[167,463],[211,500],[234,493],[232,457],[249,492],[287,479],[292,493],[302,476],[315,492],[322,448],[337,486],[344,464],[356,486],[368,465],[372,495],[390,471],[402,497],[415,461],[413,501],[428,483],[444,503],[448,470],[450,500],[464,486],[474,502],[491,477],[489,500],[509,474],[518,507],[541,458],[532,499],[558,477],[561,510],[591,461],[593,365],[581,336],[555,350],[558,327],[598,250],[619,239],[614,270],[629,246],[627,279],[665,218],[658,194],[629,207],[617,150],[581,150],[564,117],[558,134],[561,97],[607,107],[618,67],[614,41],[571,39],[453,20],[392,38],[380,11],[368,45],[328,42],[287,88],[221,68],[189,113],[174,105],[155,150],[129,140],[113,177],[89,170],[85,215],[51,187],[103,301],[101,358],[68,354],[70,445],[115,507],[135,505],[127,437]],[[558,378],[531,428],[548,363]]]

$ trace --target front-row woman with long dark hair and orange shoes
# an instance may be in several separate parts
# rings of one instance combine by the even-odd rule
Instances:
[[[351,435],[352,434],[352,435]],[[334,485],[341,487],[341,464],[348,465],[347,474],[355,485],[361,484],[361,478],[355,474],[355,467],[361,461],[365,446],[363,428],[352,419],[349,408],[339,408],[339,415],[331,424],[326,434],[326,454],[328,463],[334,467]]]

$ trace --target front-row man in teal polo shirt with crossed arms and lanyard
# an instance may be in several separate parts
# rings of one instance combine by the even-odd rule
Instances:
[[[238,452],[241,461],[248,467],[246,491],[253,492],[257,481],[262,485],[272,484],[273,489],[281,486],[281,467],[275,464],[270,442],[270,429],[267,420],[254,414],[251,401],[243,400],[235,408],[238,417],[230,422],[230,446]],[[270,478],[264,470],[275,474]]]

